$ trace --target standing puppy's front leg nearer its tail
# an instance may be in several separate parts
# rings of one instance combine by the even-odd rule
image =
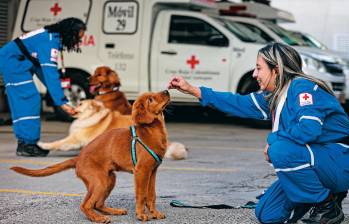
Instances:
[[[147,167],[142,167],[137,164],[134,170],[135,178],[135,194],[136,194],[136,216],[138,220],[148,221],[149,215],[145,214],[145,201],[148,193],[148,184],[150,180],[151,172],[147,170]]]

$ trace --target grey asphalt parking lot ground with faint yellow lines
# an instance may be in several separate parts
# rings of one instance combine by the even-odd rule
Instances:
[[[236,122],[238,123],[238,122]],[[189,149],[189,158],[164,160],[157,175],[157,207],[166,219],[149,223],[258,223],[253,209],[173,208],[171,200],[190,204],[239,206],[256,201],[275,180],[272,167],[264,161],[267,129],[257,129],[233,119],[227,122],[168,122],[170,141]],[[42,124],[42,140],[67,135],[69,123]],[[79,151],[51,152],[46,158],[15,155],[16,141],[10,126],[0,126],[0,223],[89,223],[79,209],[85,186],[73,170],[49,177],[33,178],[16,174],[11,166],[41,168],[71,158]],[[107,200],[128,215],[112,217],[113,223],[138,223],[134,211],[133,176],[117,173],[117,184]],[[349,201],[344,213],[349,214]],[[345,223],[349,223],[346,217]]]

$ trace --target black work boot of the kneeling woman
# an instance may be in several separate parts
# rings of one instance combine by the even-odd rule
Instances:
[[[339,224],[344,220],[342,209],[338,206],[337,201],[332,200],[322,202],[313,207],[308,219],[303,219],[307,224]]]

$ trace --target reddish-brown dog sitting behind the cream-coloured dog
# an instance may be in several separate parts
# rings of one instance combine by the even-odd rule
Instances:
[[[96,100],[102,101],[112,111],[131,114],[131,104],[119,90],[120,86],[118,74],[107,66],[98,67],[90,77],[90,92],[96,95]]]

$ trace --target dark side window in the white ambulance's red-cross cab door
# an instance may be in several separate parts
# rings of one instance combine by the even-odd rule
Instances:
[[[172,16],[169,43],[228,46],[228,39],[203,20],[189,16]]]

